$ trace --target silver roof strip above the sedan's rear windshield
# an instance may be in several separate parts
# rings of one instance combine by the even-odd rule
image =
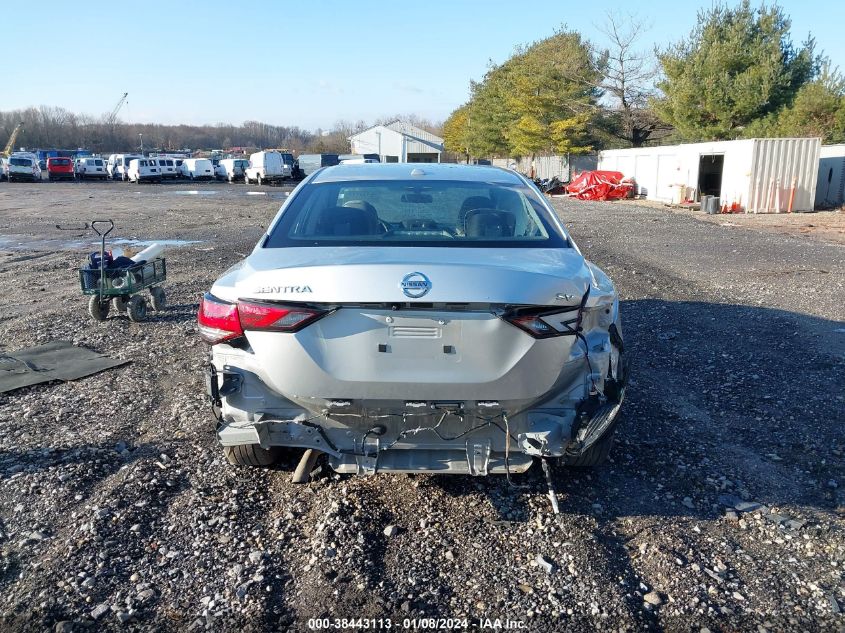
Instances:
[[[409,179],[523,184],[516,173],[507,169],[453,163],[345,163],[321,169],[311,182]]]

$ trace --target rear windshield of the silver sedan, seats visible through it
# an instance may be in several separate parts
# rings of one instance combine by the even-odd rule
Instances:
[[[533,189],[460,181],[309,184],[265,248],[285,246],[568,247]]]

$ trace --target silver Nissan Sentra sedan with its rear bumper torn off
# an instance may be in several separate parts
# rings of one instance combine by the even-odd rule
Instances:
[[[338,165],[288,197],[198,315],[229,460],[343,473],[605,459],[626,383],[616,290],[521,175]]]

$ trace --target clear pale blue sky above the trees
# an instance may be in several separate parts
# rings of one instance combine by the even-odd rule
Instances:
[[[0,111],[49,105],[100,116],[128,92],[120,112],[127,122],[259,120],[315,130],[393,114],[440,121],[467,100],[470,80],[481,79],[491,60],[506,60],[515,46],[562,24],[602,45],[607,12],[637,7],[633,19],[649,27],[641,46],[650,50],[685,38],[712,2],[4,4]],[[845,71],[845,2],[780,4],[792,18],[793,41],[812,33],[817,50]]]

